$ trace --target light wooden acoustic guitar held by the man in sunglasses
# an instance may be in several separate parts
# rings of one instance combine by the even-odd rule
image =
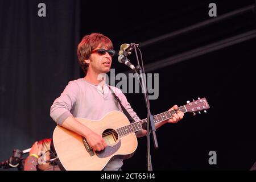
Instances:
[[[189,102],[179,107],[183,113],[209,109],[205,98]],[[154,115],[155,123],[172,118],[175,110],[166,111]],[[100,120],[76,118],[86,127],[95,133],[102,135],[108,146],[98,152],[93,151],[86,139],[81,135],[67,130],[64,127],[56,126],[53,131],[53,146],[59,160],[59,166],[65,170],[102,170],[110,159],[128,159],[133,156],[138,142],[136,131],[142,130],[147,119],[130,123],[125,114],[121,111],[111,111]]]

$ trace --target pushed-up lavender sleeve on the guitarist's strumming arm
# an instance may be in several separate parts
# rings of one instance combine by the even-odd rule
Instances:
[[[53,102],[50,116],[57,125],[62,125],[65,119],[72,115],[70,111],[77,100],[77,94],[79,85],[75,81],[70,81],[60,97]]]

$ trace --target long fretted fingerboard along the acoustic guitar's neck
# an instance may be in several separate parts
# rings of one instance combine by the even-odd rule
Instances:
[[[178,110],[182,111],[183,113],[187,112],[187,109],[186,109],[185,106],[180,106],[178,108]],[[154,121],[155,121],[155,123],[166,121],[166,119],[171,119],[172,118],[172,114],[176,114],[176,111],[175,110],[169,110],[169,111],[166,111],[164,113],[154,115]],[[130,134],[130,133],[134,133],[136,131],[141,130],[142,129],[142,124],[146,123],[146,122],[147,122],[147,119],[142,119],[141,121],[131,123],[130,125],[119,127],[117,129],[117,133],[118,133],[119,137],[123,137],[125,135]]]

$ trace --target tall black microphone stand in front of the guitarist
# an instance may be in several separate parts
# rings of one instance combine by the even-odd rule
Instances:
[[[137,65],[136,69],[139,71],[139,74],[142,75],[141,87],[142,87],[142,93],[144,96],[144,101],[145,101],[146,107],[147,107],[147,171],[152,171],[153,168],[152,168],[151,155],[150,155],[150,133],[152,133],[152,140],[154,143],[154,147],[158,148],[158,140],[156,139],[156,134],[155,134],[155,131],[156,131],[155,121],[154,121],[154,117],[150,111],[150,102],[148,100],[148,93],[147,93],[147,86],[146,86],[146,75],[144,73],[144,69],[142,69],[143,61],[142,61],[142,67],[139,64],[138,53],[137,53],[137,48],[138,48],[139,44],[130,44],[130,46],[134,48],[135,55],[137,58],[138,65]],[[131,51],[131,49],[132,48],[130,48],[129,51]],[[123,55],[127,56],[128,55],[127,51],[123,51]],[[135,69],[135,72],[138,75],[138,72],[136,69]],[[138,77],[138,80],[139,80],[139,77]]]

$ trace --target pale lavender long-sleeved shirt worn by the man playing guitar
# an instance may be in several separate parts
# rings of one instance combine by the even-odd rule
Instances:
[[[110,87],[134,121],[139,121],[139,117],[133,111],[121,90],[114,86]],[[76,118],[99,120],[106,113],[113,110],[122,111],[108,85],[105,84],[102,88],[100,85],[92,84],[84,78],[79,78],[70,81],[60,97],[56,98],[51,106],[50,115],[57,125],[62,125],[65,119],[71,115]],[[122,160],[112,160],[104,169],[118,170],[122,167],[122,164]]]

